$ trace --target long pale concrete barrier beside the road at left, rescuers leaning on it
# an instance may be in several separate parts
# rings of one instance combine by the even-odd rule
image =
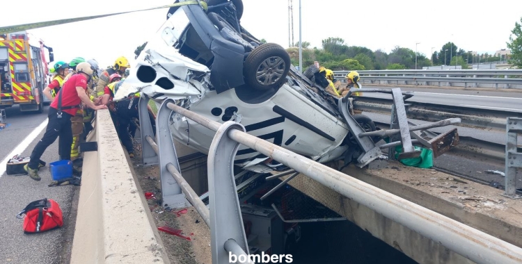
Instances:
[[[86,152],[71,263],[170,263],[109,110],[97,111]]]

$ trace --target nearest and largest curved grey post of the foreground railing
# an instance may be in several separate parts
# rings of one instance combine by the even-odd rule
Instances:
[[[246,131],[242,124],[236,122],[228,121],[221,125],[214,135],[207,160],[213,264],[228,263],[225,243],[230,239],[235,240],[248,255],[233,172],[239,143],[228,137],[228,132],[234,129]]]

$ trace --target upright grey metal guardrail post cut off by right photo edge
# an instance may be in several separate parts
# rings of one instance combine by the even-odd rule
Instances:
[[[522,133],[522,118],[507,117],[506,124],[506,181],[504,196],[521,199],[516,195],[517,168],[522,168],[522,153],[517,152],[518,135]]]

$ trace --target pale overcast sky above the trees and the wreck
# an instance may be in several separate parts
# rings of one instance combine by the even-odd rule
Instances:
[[[22,2],[22,3],[20,3]],[[54,3],[19,0],[3,4],[0,25],[9,26],[54,19],[102,15],[151,8],[173,0],[89,0]],[[321,47],[328,37],[349,45],[390,52],[395,46],[416,49],[428,57],[452,41],[461,49],[493,53],[505,49],[515,22],[522,17],[516,0],[302,0],[303,41]],[[20,8],[23,6],[23,8]],[[287,0],[244,0],[242,25],[257,38],[288,46]],[[22,13],[23,11],[23,13]],[[118,56],[134,60],[134,49],[165,21],[166,9],[117,15],[30,31],[54,48],[56,60],[75,56],[95,58],[105,67]],[[299,40],[299,0],[294,0],[294,40]]]

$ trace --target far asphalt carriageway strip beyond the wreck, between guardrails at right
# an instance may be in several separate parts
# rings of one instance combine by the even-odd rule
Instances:
[[[385,88],[363,86],[363,88]],[[390,89],[390,87],[386,87]],[[463,106],[482,108],[486,110],[505,110],[522,113],[521,92],[496,92],[433,88],[401,88],[403,91],[413,91],[415,96],[408,101],[419,103],[441,104],[445,106]],[[390,94],[365,92],[363,97],[391,99]]]

